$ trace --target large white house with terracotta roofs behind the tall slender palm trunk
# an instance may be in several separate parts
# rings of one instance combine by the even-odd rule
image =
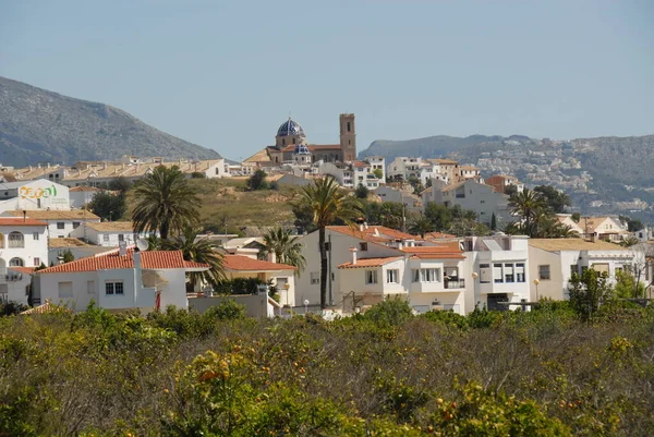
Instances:
[[[302,238],[306,268],[296,277],[295,302],[320,302],[318,232]],[[385,227],[326,229],[328,301],[351,313],[401,295],[416,312],[467,311],[464,256],[458,242],[434,244]]]

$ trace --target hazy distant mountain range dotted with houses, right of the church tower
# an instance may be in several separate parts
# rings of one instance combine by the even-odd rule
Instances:
[[[452,158],[482,175],[507,173],[528,185],[565,190],[589,213],[645,214],[654,221],[654,135],[550,141],[524,135],[429,136],[374,141],[360,158],[378,155]]]

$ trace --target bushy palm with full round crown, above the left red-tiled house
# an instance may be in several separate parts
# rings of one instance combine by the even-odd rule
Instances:
[[[184,173],[175,166],[159,166],[142,179],[134,190],[136,205],[132,211],[134,231],[158,231],[162,240],[171,232],[198,222],[199,198]]]

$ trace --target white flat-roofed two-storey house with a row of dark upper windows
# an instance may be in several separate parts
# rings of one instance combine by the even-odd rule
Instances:
[[[467,308],[495,311],[517,309],[509,302],[531,302],[529,238],[506,235],[467,236],[461,246],[465,251]]]

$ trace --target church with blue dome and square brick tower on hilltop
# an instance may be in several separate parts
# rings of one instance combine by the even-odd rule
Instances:
[[[354,114],[339,116],[340,141],[338,144],[311,144],[300,123],[289,117],[275,135],[275,145],[247,158],[245,162],[274,167],[276,165],[312,162],[351,162],[356,159],[356,131]]]

